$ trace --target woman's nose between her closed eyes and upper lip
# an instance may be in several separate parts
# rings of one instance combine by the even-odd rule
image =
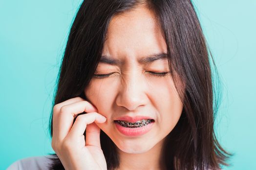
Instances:
[[[137,107],[146,105],[148,101],[147,87],[141,73],[133,72],[122,75],[121,85],[116,99],[118,106],[125,107],[129,111],[136,110]]]

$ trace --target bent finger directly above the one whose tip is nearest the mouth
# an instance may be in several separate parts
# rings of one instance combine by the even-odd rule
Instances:
[[[69,133],[74,118],[83,112],[95,112],[95,107],[87,101],[74,102],[64,105],[59,113],[55,113],[55,133],[58,140],[63,140]]]

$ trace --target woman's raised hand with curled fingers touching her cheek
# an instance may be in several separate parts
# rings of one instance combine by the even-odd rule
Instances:
[[[87,114],[77,116],[84,111]],[[95,124],[107,119],[97,112],[92,104],[80,97],[54,106],[52,148],[65,170],[107,170],[101,150],[100,128]]]

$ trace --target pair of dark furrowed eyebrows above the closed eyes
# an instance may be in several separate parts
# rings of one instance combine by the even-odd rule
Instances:
[[[150,63],[152,63],[154,61],[164,60],[167,58],[168,58],[167,53],[160,52],[160,53],[156,53],[156,54],[151,54],[146,57],[142,57],[138,60],[138,62],[140,64],[149,65]],[[115,66],[121,66],[123,64],[123,62],[121,60],[111,58],[110,56],[107,56],[107,55],[101,56],[100,63],[106,63],[109,65],[115,65]]]

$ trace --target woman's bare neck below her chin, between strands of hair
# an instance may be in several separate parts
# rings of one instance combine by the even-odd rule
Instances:
[[[118,170],[165,170],[162,157],[164,139],[145,153],[125,153],[118,149]]]

